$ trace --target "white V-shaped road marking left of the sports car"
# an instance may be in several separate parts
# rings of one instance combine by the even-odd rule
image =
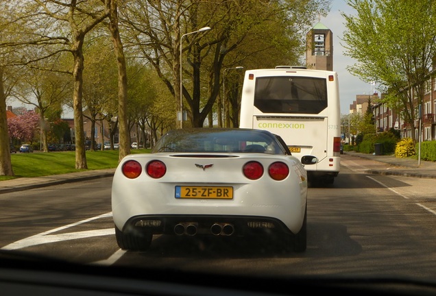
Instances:
[[[9,245],[5,245],[1,249],[12,250],[12,249],[22,249],[24,247],[32,247],[34,245],[43,245],[45,243],[54,243],[60,242],[63,240],[73,240],[78,238],[88,238],[93,236],[106,236],[115,234],[114,228],[103,229],[103,230],[87,230],[84,232],[71,232],[66,234],[54,234],[54,232],[59,232],[60,230],[66,230],[70,227],[74,227],[86,222],[90,222],[93,220],[112,217],[112,212],[108,212],[106,214],[101,214],[99,216],[91,217],[88,219],[84,219],[82,221],[78,221],[75,223],[71,223],[69,225],[64,225],[62,227],[55,228],[53,230],[48,230],[46,232],[42,232],[40,234],[36,234],[34,236],[29,236],[27,238],[23,238],[22,240],[17,240],[14,243],[10,243]],[[51,235],[49,235],[51,234]]]

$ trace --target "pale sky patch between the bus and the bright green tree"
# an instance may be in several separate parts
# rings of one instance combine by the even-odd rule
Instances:
[[[374,92],[374,86],[363,82],[359,77],[350,74],[346,66],[355,64],[352,58],[344,56],[345,49],[341,46],[343,32],[346,27],[341,12],[354,14],[355,10],[346,4],[345,0],[332,0],[330,13],[320,18],[320,22],[328,27],[333,34],[333,71],[338,73],[339,99],[341,100],[341,114],[350,113],[350,104],[356,100],[356,95],[366,95]],[[316,23],[314,24],[316,25]],[[376,91],[376,90],[375,90]]]

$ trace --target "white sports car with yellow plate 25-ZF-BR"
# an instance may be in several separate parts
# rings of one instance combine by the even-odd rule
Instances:
[[[317,162],[304,156],[304,164]],[[154,234],[268,234],[306,249],[307,175],[287,145],[261,130],[171,130],[152,153],[121,160],[112,214],[121,249]]]

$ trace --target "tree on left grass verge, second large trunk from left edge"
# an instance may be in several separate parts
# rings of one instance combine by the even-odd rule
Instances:
[[[5,46],[22,50],[23,56],[16,64],[32,65],[64,52],[73,56],[73,71],[71,73],[66,70],[65,73],[73,76],[75,168],[87,169],[82,116],[83,46],[86,34],[108,14],[97,0],[21,0],[14,4],[16,6],[12,23],[21,29],[21,39],[6,42]],[[32,52],[39,53],[38,57],[29,57],[26,54],[31,46],[35,47]]]

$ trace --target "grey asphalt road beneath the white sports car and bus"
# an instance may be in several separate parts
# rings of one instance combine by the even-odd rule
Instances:
[[[310,188],[308,249],[282,251],[269,237],[155,236],[147,252],[114,238],[112,178],[0,195],[0,247],[80,263],[269,275],[413,275],[434,278],[433,180],[369,175],[343,157],[332,188]],[[433,182],[434,183],[434,182]]]

